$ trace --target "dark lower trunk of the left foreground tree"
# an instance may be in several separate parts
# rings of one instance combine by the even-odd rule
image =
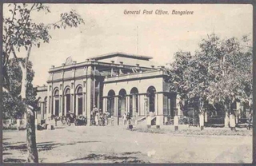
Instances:
[[[34,119],[33,108],[30,105],[26,105],[26,148],[28,152],[27,162],[29,163],[38,163]]]

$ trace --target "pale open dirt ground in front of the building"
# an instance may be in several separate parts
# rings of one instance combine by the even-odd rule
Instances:
[[[160,132],[151,133],[155,131]],[[38,156],[40,163],[251,163],[251,131],[238,128],[238,133],[228,128],[201,132],[180,127],[174,132],[173,126],[134,131],[123,126],[59,126],[37,131]],[[4,131],[4,162],[26,162],[26,156],[26,131]]]

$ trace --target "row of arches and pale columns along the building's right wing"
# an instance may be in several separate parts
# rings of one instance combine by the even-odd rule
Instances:
[[[117,92],[110,89],[106,97],[103,97],[103,111],[110,116],[121,118],[124,113],[130,113],[132,117],[149,116],[174,116],[176,109],[176,95],[173,93],[157,92],[154,86],[150,86],[146,92],[139,92],[136,87],[132,89],[120,89]],[[181,115],[181,110],[178,114]]]

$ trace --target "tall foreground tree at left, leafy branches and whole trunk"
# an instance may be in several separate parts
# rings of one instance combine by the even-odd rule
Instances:
[[[38,163],[38,151],[36,147],[35,125],[34,125],[34,108],[26,103],[27,85],[27,68],[30,59],[30,53],[33,46],[40,47],[41,43],[50,41],[50,29],[60,29],[66,27],[78,27],[84,23],[83,19],[74,10],[61,14],[59,20],[52,24],[44,24],[43,22],[34,22],[31,14],[34,12],[44,11],[50,13],[50,8],[42,3],[34,4],[9,4],[10,17],[3,18],[3,73],[4,73],[4,92],[10,92],[8,85],[7,63],[13,55],[22,69],[21,90],[18,93],[22,99],[24,108],[26,108],[26,141],[28,149],[28,162]],[[26,58],[24,63],[18,58],[20,49],[26,49]]]

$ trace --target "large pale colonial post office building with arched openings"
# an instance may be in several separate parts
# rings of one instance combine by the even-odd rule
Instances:
[[[125,112],[138,121],[151,114],[160,124],[164,117],[173,117],[176,108],[178,115],[182,114],[165,80],[166,69],[150,59],[110,53],[80,63],[68,58],[61,66],[52,66],[47,84],[37,88],[38,119],[74,113],[90,121],[94,105],[114,116],[116,124]]]

